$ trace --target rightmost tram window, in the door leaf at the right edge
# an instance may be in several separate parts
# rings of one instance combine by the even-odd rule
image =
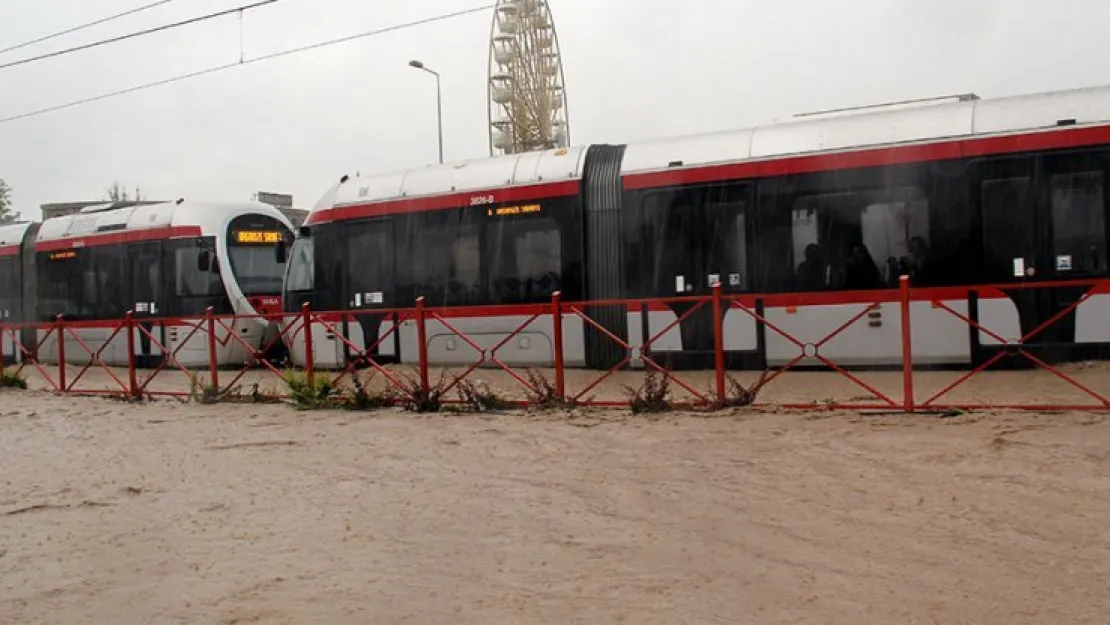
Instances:
[[[1052,177],[1052,245],[1061,274],[1107,272],[1106,196],[1101,171]]]

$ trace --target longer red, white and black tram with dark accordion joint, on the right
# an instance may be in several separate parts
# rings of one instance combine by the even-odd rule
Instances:
[[[770,324],[821,343],[908,274],[919,288],[917,364],[982,362],[1003,349],[999,337],[1018,341],[1049,322],[1028,341],[1042,357],[1107,357],[1108,175],[1110,87],[879,104],[344,177],[301,229],[284,305],[359,312],[342,332],[365,346],[389,326],[374,310],[410,308],[420,295],[488,349],[555,291],[597,302],[707,295],[720,284],[770,322],[736,308],[724,317],[729,366],[761,369],[799,354]],[[1021,288],[1033,282],[1043,288]],[[899,304],[887,300],[821,354],[841,366],[898,365]],[[604,332],[567,315],[565,362],[613,366],[626,350],[607,334],[638,347],[692,305],[584,309]],[[342,365],[345,343],[317,332],[316,363]],[[713,334],[703,306],[652,343],[653,359],[712,367]],[[417,357],[410,322],[381,343],[383,360]],[[303,349],[291,349],[303,362]],[[477,357],[433,322],[427,353],[434,364]],[[514,335],[498,359],[549,364],[549,317]]]

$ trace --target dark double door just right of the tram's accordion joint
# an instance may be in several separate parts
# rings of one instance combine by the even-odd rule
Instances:
[[[707,185],[659,194],[645,202],[645,222],[654,239],[653,293],[659,298],[694,298],[747,290],[746,185]],[[714,314],[712,303],[670,302],[667,306],[682,317],[682,352],[659,347],[652,355],[674,369],[713,366]],[[690,312],[692,309],[695,309]],[[668,322],[669,323],[669,322]],[[663,330],[653,323],[647,333]],[[726,342],[727,343],[727,342]],[[726,345],[727,349],[727,345]]]

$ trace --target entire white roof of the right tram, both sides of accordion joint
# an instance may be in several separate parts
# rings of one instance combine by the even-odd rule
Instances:
[[[980,100],[931,99],[797,115],[760,127],[630,143],[620,173],[773,160],[809,153],[966,139],[1110,122],[1110,85]],[[351,178],[335,184],[314,211],[391,200],[465,193],[582,178],[585,145],[482,158]]]

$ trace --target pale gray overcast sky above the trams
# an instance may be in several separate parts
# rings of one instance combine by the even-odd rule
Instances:
[[[0,0],[0,48],[148,0]],[[179,0],[0,62],[248,3]],[[244,19],[248,57],[484,4],[280,0]],[[574,143],[628,142],[953,92],[1110,82],[1104,0],[551,0]],[[487,13],[236,68],[0,124],[16,209],[97,199],[119,180],[174,199],[293,193],[436,159],[443,74],[448,160],[488,153]],[[0,118],[239,59],[232,18],[0,70]]]

